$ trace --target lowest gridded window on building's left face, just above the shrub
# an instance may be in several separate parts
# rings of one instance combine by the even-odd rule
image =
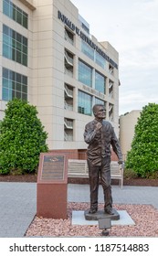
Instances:
[[[27,77],[3,68],[2,100],[14,98],[27,101]]]

